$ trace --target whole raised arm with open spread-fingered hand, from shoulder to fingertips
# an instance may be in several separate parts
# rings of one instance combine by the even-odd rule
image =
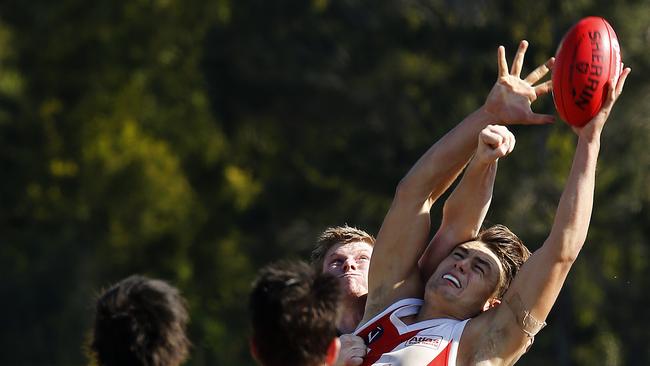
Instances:
[[[478,133],[488,124],[542,124],[554,121],[552,116],[533,113],[530,108],[538,96],[550,90],[548,82],[536,87],[532,84],[548,72],[553,60],[537,68],[526,79],[521,79],[527,47],[528,43],[522,41],[510,72],[507,70],[505,50],[499,47],[499,77],[485,105],[429,148],[399,183],[377,235],[369,271],[364,321],[396,299],[422,295],[417,262],[428,242],[429,210],[467,164],[476,148]]]

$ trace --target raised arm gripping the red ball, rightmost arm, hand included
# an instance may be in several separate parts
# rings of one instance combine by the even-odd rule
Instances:
[[[474,354],[483,358],[475,361],[516,360],[555,303],[587,237],[600,135],[629,73],[630,69],[626,68],[615,87],[609,84],[606,101],[598,115],[583,128],[575,129],[578,144],[573,165],[548,238],[516,275],[504,295],[505,303],[474,319],[476,324],[470,321],[468,328],[474,328],[471,333],[480,339]]]

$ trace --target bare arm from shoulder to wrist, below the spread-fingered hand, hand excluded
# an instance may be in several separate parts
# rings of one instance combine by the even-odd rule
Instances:
[[[377,235],[364,320],[396,299],[421,296],[417,264],[429,243],[429,211],[461,172],[477,146],[479,132],[489,122],[482,110],[472,113],[433,145],[400,182]]]

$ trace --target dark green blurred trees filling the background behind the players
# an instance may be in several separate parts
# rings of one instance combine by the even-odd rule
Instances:
[[[482,103],[495,50],[553,54],[608,18],[633,68],[588,243],[520,363],[650,363],[648,34],[639,1],[5,1],[0,4],[0,364],[85,363],[93,296],[131,273],[192,312],[192,365],[252,364],[255,269],[320,230],[379,228],[417,157]],[[552,111],[550,98],[537,110]],[[488,219],[545,238],[573,152],[514,128]],[[439,207],[434,216],[439,217]],[[434,219],[436,222],[436,219]]]

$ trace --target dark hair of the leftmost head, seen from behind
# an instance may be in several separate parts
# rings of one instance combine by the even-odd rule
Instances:
[[[101,366],[177,366],[190,346],[188,319],[176,288],[134,275],[97,300],[90,348]]]

